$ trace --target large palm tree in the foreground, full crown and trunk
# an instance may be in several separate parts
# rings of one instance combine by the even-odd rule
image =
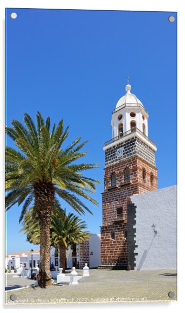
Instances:
[[[69,147],[62,148],[68,136],[63,120],[50,132],[50,118],[44,121],[37,112],[37,127],[28,114],[24,114],[25,127],[18,120],[6,127],[19,151],[6,147],[6,210],[15,203],[23,204],[20,221],[29,205],[35,201],[40,228],[40,271],[37,276],[40,287],[51,285],[50,274],[50,219],[56,195],[65,200],[79,214],[91,213],[79,199],[83,197],[94,204],[87,195],[95,192],[97,180],[84,176],[81,171],[96,168],[96,164],[74,164],[87,152],[79,152],[85,142],[77,145],[77,138]]]

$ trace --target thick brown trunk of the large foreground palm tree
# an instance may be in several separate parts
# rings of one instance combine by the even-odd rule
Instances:
[[[46,288],[51,285],[50,220],[54,187],[48,183],[37,183],[34,192],[40,227],[40,269],[37,275],[37,281],[41,288]]]

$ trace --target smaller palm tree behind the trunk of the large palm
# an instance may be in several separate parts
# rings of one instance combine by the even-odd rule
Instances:
[[[90,233],[85,231],[85,222],[73,213],[66,215],[66,210],[58,207],[52,211],[50,237],[51,245],[57,247],[60,253],[60,267],[66,269],[66,249],[74,244],[88,240]],[[34,207],[31,207],[24,216],[23,228],[27,240],[33,244],[40,243],[38,216]]]

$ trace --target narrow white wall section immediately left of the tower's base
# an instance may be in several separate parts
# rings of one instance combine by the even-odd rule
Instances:
[[[89,238],[89,267],[101,265],[100,234],[92,234]]]

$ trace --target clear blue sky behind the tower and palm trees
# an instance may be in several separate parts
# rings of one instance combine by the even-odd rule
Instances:
[[[103,143],[112,136],[111,112],[126,75],[149,112],[158,186],[176,184],[176,19],[174,12],[6,10],[6,123],[22,121],[24,112],[35,119],[39,110],[70,125],[66,145],[89,140],[84,161],[100,166],[87,174],[102,183],[94,195],[99,208],[88,203],[94,215],[82,216],[93,233],[102,225]],[[9,253],[36,248],[19,233],[20,211],[15,205],[7,214]]]

